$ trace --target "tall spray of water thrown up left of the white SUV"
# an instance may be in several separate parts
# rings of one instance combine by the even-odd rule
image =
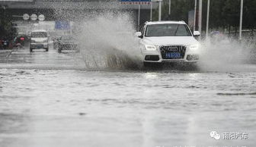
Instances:
[[[130,14],[94,14],[78,34],[81,54],[88,68],[141,67],[139,39]]]

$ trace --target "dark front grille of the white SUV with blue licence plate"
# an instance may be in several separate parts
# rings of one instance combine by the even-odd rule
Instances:
[[[186,53],[186,46],[168,45],[159,47],[163,59],[181,59]]]

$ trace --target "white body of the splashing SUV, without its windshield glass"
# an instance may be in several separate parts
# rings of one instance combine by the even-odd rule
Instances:
[[[200,43],[194,38],[194,35],[200,35],[199,32],[194,32],[193,35],[187,27],[187,34],[190,33],[190,36],[146,36],[147,27],[155,24],[182,24],[187,27],[184,21],[146,22],[142,27],[142,33],[136,33],[136,36],[141,38],[140,49],[144,62],[197,62],[199,60]]]

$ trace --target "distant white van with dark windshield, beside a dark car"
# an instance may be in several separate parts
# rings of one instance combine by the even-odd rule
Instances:
[[[49,50],[48,35],[46,30],[34,30],[30,36],[30,52],[34,49],[45,48],[46,52]]]

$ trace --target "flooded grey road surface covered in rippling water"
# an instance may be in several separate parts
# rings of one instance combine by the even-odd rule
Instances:
[[[85,70],[79,55],[0,53],[1,147],[246,146],[256,66],[232,71]],[[216,131],[221,139],[210,137]],[[223,139],[224,133],[248,138]]]

